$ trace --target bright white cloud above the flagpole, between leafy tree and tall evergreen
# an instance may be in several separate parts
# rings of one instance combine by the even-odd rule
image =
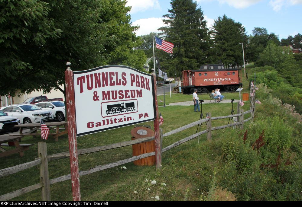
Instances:
[[[157,30],[160,27],[167,26],[166,24],[163,23],[162,18],[148,18],[148,19],[138,19],[135,22],[132,22],[132,25],[138,25],[140,28],[136,32],[136,36],[141,36],[145,34],[149,34],[150,32],[160,32]]]

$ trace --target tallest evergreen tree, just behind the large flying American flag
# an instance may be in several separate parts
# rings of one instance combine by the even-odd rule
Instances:
[[[165,41],[174,44],[173,53],[162,66],[170,75],[180,75],[186,69],[198,69],[206,59],[209,49],[209,36],[203,11],[192,0],[172,0],[170,14],[163,17],[166,27],[163,32]]]

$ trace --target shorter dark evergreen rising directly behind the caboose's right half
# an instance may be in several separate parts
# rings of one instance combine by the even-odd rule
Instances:
[[[214,21],[211,32],[216,61],[221,60],[226,67],[242,65],[242,46],[239,43],[243,43],[244,46],[247,43],[245,28],[242,24],[223,15]]]

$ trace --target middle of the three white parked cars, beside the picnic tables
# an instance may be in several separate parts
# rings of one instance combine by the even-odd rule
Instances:
[[[20,123],[39,123],[40,116],[44,122],[54,119],[52,112],[49,110],[40,109],[36,105],[28,103],[19,103],[8,105],[0,108],[4,113],[9,116],[15,116],[20,119]]]

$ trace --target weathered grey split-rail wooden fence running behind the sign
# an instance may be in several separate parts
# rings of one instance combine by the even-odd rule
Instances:
[[[181,131],[183,131],[185,129],[188,129],[190,127],[200,125],[204,122],[206,122],[206,127],[207,127],[206,130],[203,130],[201,132],[190,135],[186,138],[183,138],[183,139],[181,139],[181,140],[179,140],[179,141],[163,148],[161,150],[161,152],[168,151],[171,148],[174,148],[178,145],[181,145],[181,144],[183,144],[183,143],[185,143],[185,142],[187,142],[191,139],[194,139],[194,138],[196,138],[196,137],[198,137],[202,134],[205,134],[205,133],[207,133],[208,141],[211,141],[212,140],[212,131],[217,130],[217,129],[224,129],[224,128],[231,127],[231,126],[236,126],[236,125],[240,125],[240,128],[243,129],[243,124],[245,122],[253,119],[253,117],[251,116],[248,119],[244,120],[244,118],[243,118],[244,115],[248,114],[248,113],[251,113],[253,115],[253,112],[254,112],[253,109],[245,111],[245,112],[243,110],[238,110],[237,114],[233,114],[233,115],[229,115],[229,116],[218,116],[218,117],[211,117],[211,113],[209,113],[209,118],[200,119],[200,120],[195,121],[193,123],[187,124],[187,125],[182,126],[180,128],[174,129],[170,132],[167,132],[164,135],[162,135],[162,132],[161,132],[160,135],[161,135],[161,142],[162,142],[163,137],[175,134],[177,132],[181,132]],[[223,126],[212,127],[212,123],[211,123],[212,120],[226,119],[226,118],[232,118],[232,117],[237,117],[237,122],[232,123],[232,124],[223,125]],[[93,147],[93,148],[80,149],[80,150],[77,151],[77,153],[78,153],[78,155],[88,154],[88,153],[104,151],[104,150],[108,150],[108,149],[114,149],[114,148],[134,145],[134,144],[143,143],[143,142],[149,142],[149,141],[152,141],[152,140],[154,140],[154,137],[146,137],[146,138],[141,138],[141,139],[136,139],[136,140],[130,140],[130,141],[125,141],[125,142],[110,144],[110,145],[106,145],[106,146],[98,146],[98,147]],[[49,179],[49,177],[48,177],[48,163],[47,162],[57,160],[57,159],[62,159],[62,158],[68,158],[68,157],[70,157],[70,154],[69,154],[69,152],[62,152],[62,153],[57,153],[57,154],[52,154],[52,155],[47,156],[46,143],[44,142],[44,143],[41,143],[41,144],[45,144],[45,146],[43,146],[43,147],[39,146],[39,158],[37,158],[36,160],[0,170],[0,177],[4,177],[4,176],[10,175],[10,174],[17,173],[21,170],[25,170],[25,169],[28,169],[30,167],[40,165],[41,183],[37,183],[37,184],[34,184],[32,186],[24,187],[22,189],[13,191],[11,193],[7,193],[5,195],[2,195],[2,196],[0,196],[0,200],[12,199],[12,198],[20,196],[24,193],[28,193],[32,190],[39,189],[39,188],[42,188],[42,198],[43,198],[43,200],[50,200],[50,187],[49,187],[49,185],[71,179],[71,174],[64,175],[64,176],[61,176],[61,177],[57,177],[57,178],[54,178],[54,179]],[[38,143],[38,145],[41,145],[41,144],[40,144],[40,142]],[[94,173],[94,172],[98,172],[100,170],[105,170],[105,169],[108,169],[108,168],[111,168],[111,167],[116,167],[116,166],[119,166],[119,165],[122,165],[122,164],[125,164],[125,163],[129,163],[129,162],[139,160],[141,158],[146,158],[146,157],[149,157],[149,156],[153,156],[153,155],[155,155],[155,152],[150,152],[150,153],[145,153],[145,154],[141,154],[141,155],[138,155],[138,156],[133,156],[131,158],[116,161],[116,162],[113,162],[113,163],[96,166],[96,167],[93,167],[89,170],[80,171],[79,175],[82,176],[82,175],[91,174],[91,173]]]

